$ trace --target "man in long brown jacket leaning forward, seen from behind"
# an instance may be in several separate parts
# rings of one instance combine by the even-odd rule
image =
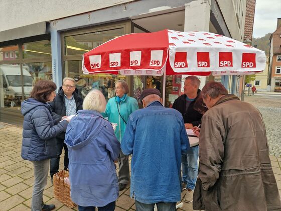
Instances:
[[[209,110],[202,118],[193,209],[281,210],[261,114],[221,83],[207,83],[201,94]]]

